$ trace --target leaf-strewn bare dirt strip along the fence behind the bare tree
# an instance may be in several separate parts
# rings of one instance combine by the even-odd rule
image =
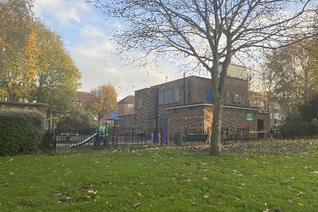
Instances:
[[[209,153],[210,144],[192,146],[174,146],[172,148],[185,151]],[[278,154],[278,153],[318,153],[318,139],[306,140],[283,140],[261,143],[237,142],[222,145],[222,153],[257,153],[257,154]]]

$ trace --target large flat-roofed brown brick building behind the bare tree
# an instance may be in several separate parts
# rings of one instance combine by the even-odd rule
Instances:
[[[233,76],[233,77],[231,77]],[[223,127],[269,129],[270,113],[251,107],[245,69],[231,65],[224,91]],[[211,80],[189,76],[135,91],[134,111],[121,114],[120,126],[156,128],[211,127],[213,102]]]

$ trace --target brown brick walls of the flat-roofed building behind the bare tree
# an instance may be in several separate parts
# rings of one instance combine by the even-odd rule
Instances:
[[[178,79],[168,83],[163,83],[160,85],[155,85],[150,88],[145,88],[135,91],[135,108],[136,113],[135,123],[132,126],[137,127],[137,120],[141,119],[143,128],[151,127],[151,120],[156,120],[157,128],[160,129],[161,118],[166,115],[169,119],[169,127],[194,127],[194,126],[204,126],[211,127],[211,122],[213,120],[213,107],[207,106],[194,106],[195,110],[190,111],[189,107],[178,108],[178,112],[174,112],[174,109],[166,110],[167,107],[174,107],[186,104],[203,102],[206,101],[206,91],[210,91],[211,80],[208,78],[190,76],[185,79]],[[167,89],[173,89],[179,87],[180,89],[180,101],[173,102],[170,104],[158,105],[158,92],[165,91]],[[233,102],[233,92],[243,94],[243,103]],[[184,95],[185,93],[185,95]],[[229,93],[229,96],[227,94]],[[138,107],[138,97],[141,96],[143,99],[142,109],[137,109]],[[226,89],[224,92],[224,101],[226,104],[240,106],[248,106],[248,91],[247,91],[247,81],[227,78]],[[268,114],[260,114],[252,111],[250,109],[233,109],[224,108],[224,126],[231,127],[252,127],[257,128],[257,119],[264,120],[264,126],[270,126],[270,119]],[[246,120],[246,114],[253,113],[253,121]],[[231,114],[233,116],[231,116]],[[185,117],[202,117],[196,118],[192,121],[190,119],[183,120]],[[267,119],[268,118],[268,119]],[[176,121],[180,119],[180,122]],[[264,127],[269,129],[269,127]]]

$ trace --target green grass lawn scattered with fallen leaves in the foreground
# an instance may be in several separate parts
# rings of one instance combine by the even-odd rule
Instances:
[[[0,157],[0,211],[317,211],[317,143]]]

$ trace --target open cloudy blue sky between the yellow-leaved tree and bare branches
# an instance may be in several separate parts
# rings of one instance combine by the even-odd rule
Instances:
[[[80,91],[110,83],[115,86],[120,100],[134,95],[135,90],[166,82],[166,76],[168,81],[183,76],[169,62],[151,73],[124,66],[125,63],[110,52],[117,44],[109,33],[112,29],[120,29],[121,23],[105,20],[100,11],[82,0],[35,0],[33,12],[51,30],[61,34],[82,73]]]

